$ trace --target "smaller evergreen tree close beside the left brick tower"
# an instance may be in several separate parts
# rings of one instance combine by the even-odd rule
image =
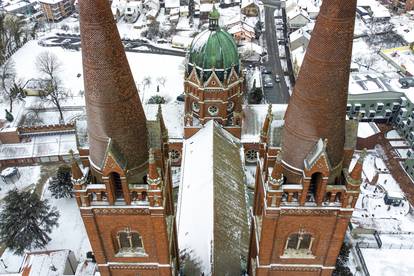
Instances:
[[[53,177],[49,183],[49,191],[54,198],[73,197],[71,169],[69,166],[60,166],[56,177]]]

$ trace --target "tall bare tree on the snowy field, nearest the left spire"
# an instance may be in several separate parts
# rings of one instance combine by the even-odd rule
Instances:
[[[60,122],[64,122],[61,102],[66,100],[69,93],[62,86],[62,81],[58,77],[58,73],[62,68],[58,57],[51,52],[42,52],[36,59],[37,69],[46,75],[47,80],[42,87],[42,99],[52,103],[59,111]]]

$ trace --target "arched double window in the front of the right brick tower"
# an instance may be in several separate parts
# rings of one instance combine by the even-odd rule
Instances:
[[[285,251],[282,257],[285,258],[310,258],[312,254],[312,246],[314,238],[311,234],[306,233],[303,229],[298,233],[291,234],[285,244]]]

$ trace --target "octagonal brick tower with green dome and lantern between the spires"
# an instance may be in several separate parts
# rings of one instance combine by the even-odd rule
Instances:
[[[188,52],[184,76],[186,139],[209,120],[241,137],[244,77],[237,45],[220,28],[219,18],[213,6],[209,28],[194,38]]]

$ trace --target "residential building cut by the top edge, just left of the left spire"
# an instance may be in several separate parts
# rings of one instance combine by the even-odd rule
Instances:
[[[49,21],[60,21],[75,9],[72,0],[39,0],[39,3]]]

